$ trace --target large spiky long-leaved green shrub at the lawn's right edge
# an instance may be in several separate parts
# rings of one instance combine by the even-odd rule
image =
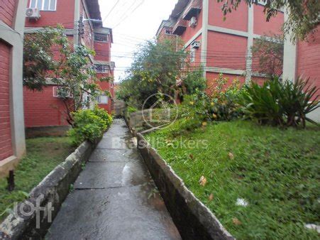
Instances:
[[[309,112],[319,107],[316,100],[317,88],[311,87],[309,80],[281,82],[274,78],[260,86],[254,82],[244,86],[239,104],[245,116],[257,119],[260,124],[274,126],[305,127],[306,121],[316,124],[307,118]]]

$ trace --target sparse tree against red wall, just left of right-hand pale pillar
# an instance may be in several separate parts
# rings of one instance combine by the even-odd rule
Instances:
[[[253,47],[253,59],[259,60],[258,72],[270,75],[271,77],[280,77],[283,67],[283,36],[273,34],[262,36],[255,39]]]

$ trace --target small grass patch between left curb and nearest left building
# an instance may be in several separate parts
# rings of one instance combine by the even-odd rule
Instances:
[[[9,192],[6,179],[0,179],[0,222],[13,202],[24,200],[33,187],[75,150],[68,137],[31,138],[26,140],[26,146],[27,155],[15,170],[15,190]]]

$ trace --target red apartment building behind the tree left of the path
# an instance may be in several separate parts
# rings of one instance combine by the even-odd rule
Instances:
[[[78,31],[80,19],[83,19],[84,24],[82,34]],[[92,57],[92,67],[96,70],[97,77],[113,76],[114,62],[110,61],[112,30],[102,26],[98,0],[28,0],[25,33],[57,24],[65,27],[66,35],[74,45],[82,44],[96,50],[96,55]],[[111,81],[99,84],[102,90],[111,93],[111,97],[101,95],[97,103],[111,113],[114,83]],[[27,129],[36,130],[49,126],[59,129],[60,126],[68,126],[62,101],[55,94],[57,87],[48,79],[48,87],[43,92],[33,92],[26,87],[23,89]]]

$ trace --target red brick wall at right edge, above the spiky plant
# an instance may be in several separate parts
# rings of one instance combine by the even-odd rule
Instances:
[[[316,30],[308,41],[298,43],[297,75],[304,79],[310,78],[311,84],[320,88],[320,25]]]

